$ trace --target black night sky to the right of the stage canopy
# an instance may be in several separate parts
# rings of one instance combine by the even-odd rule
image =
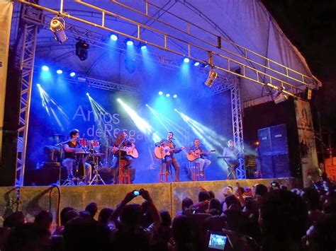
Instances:
[[[323,87],[313,93],[311,102],[315,129],[320,111],[323,132],[332,132],[336,143],[336,1],[262,0],[285,35],[306,58]],[[327,144],[327,134],[323,135]],[[335,151],[334,151],[335,153]]]

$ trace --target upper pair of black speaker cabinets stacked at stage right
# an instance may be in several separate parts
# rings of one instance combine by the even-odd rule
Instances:
[[[259,154],[273,155],[288,153],[286,124],[258,130]]]

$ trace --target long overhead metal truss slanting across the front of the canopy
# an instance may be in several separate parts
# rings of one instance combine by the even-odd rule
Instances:
[[[86,6],[89,9],[93,9],[95,11],[99,11],[101,13],[101,21],[100,22],[91,22],[86,21],[80,16],[72,16],[70,13],[63,12],[63,1],[60,1],[61,7],[60,11],[55,11],[51,8],[47,8],[44,6],[40,6],[38,4],[30,3],[25,0],[16,0],[23,4],[28,4],[30,6],[35,6],[36,8],[40,8],[44,11],[48,11],[50,13],[54,13],[58,16],[64,16],[65,18],[69,18],[75,21],[79,21],[85,23],[86,25],[91,25],[96,28],[101,28],[102,30],[108,30],[109,32],[117,33],[119,35],[123,35],[124,37],[131,38],[133,40],[138,40],[139,42],[145,42],[147,45],[152,45],[153,47],[157,47],[159,49],[163,49],[167,52],[172,52],[174,54],[178,54],[180,56],[186,56],[194,61],[201,62],[203,64],[210,64],[213,68],[218,69],[220,71],[225,71],[230,74],[234,74],[236,76],[240,76],[242,78],[246,78],[254,83],[258,83],[264,87],[273,88],[277,91],[282,91],[282,93],[295,96],[296,98],[300,98],[298,96],[306,87],[308,88],[316,88],[318,80],[313,78],[313,76],[306,76],[305,74],[301,74],[298,71],[290,69],[283,64],[279,64],[278,62],[274,62],[267,57],[258,54],[257,52],[253,52],[250,49],[245,47],[241,47],[240,45],[235,44],[234,42],[225,39],[225,37],[221,37],[220,35],[211,33],[207,31],[205,28],[200,27],[199,25],[195,25],[190,21],[186,21],[185,19],[175,15],[174,13],[170,13],[154,4],[151,4],[148,1],[145,1],[145,12],[141,12],[127,6],[125,4],[121,4],[118,1],[111,1],[113,4],[118,4],[123,8],[127,8],[129,11],[133,11],[135,16],[139,14],[145,16],[145,18],[150,18],[155,22],[164,25],[165,28],[170,28],[177,30],[178,33],[182,33],[186,35],[188,38],[182,39],[176,35],[171,35],[162,30],[157,30],[148,25],[142,24],[138,21],[135,21],[130,18],[126,18],[125,16],[117,13],[113,13],[112,11],[108,11],[104,8],[100,8],[99,6],[95,6],[94,4],[89,4],[84,1],[77,0],[75,1],[77,4],[81,4]],[[169,23],[164,23],[163,21],[155,18],[154,16],[150,16],[150,8],[158,9],[159,11],[164,11],[165,13],[171,15],[173,18],[177,18],[179,21],[184,22],[184,25],[180,25],[179,27],[175,27],[174,25],[170,25]],[[136,28],[135,35],[128,35],[123,33],[121,30],[116,30],[116,28],[109,28],[106,25],[106,16],[118,18],[119,20],[133,25]],[[180,27],[185,28],[180,28]],[[203,32],[208,33],[211,40],[202,40],[196,34],[192,33],[191,28],[201,29]],[[197,30],[195,29],[195,30]],[[142,31],[147,30],[150,33],[153,33],[159,37],[155,42],[146,40],[142,38]],[[211,42],[216,41],[216,42]],[[174,42],[179,42],[184,45],[186,49],[176,49],[171,46]],[[201,44],[201,45],[199,45]],[[230,45],[235,48],[239,48],[240,53],[231,52],[229,49],[225,49],[223,45]],[[211,47],[211,49],[209,49]],[[201,52],[201,54],[208,54],[208,59],[199,58],[194,52]],[[257,58],[257,59],[256,59]],[[261,64],[260,62],[265,62],[265,64]],[[240,67],[242,69],[241,72],[233,71],[233,67]],[[266,73],[267,72],[267,73]]]

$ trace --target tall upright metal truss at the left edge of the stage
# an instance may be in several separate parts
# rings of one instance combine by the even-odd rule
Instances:
[[[34,1],[34,3],[37,3]],[[16,155],[16,185],[23,185],[26,163],[26,147],[28,136],[28,121],[30,112],[30,95],[33,82],[35,48],[38,34],[38,23],[42,23],[43,12],[30,6],[21,10],[23,20],[21,26],[21,55],[19,67],[21,73],[20,111],[18,121],[18,144]]]

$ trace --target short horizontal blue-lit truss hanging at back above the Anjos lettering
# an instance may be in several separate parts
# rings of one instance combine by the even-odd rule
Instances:
[[[79,77],[77,79],[65,78],[65,80],[69,81],[70,83],[85,83],[88,86],[107,91],[121,91],[123,93],[128,93],[132,95],[141,95],[141,92],[138,88],[134,88],[132,86],[124,86],[119,83],[102,81],[96,78]]]

